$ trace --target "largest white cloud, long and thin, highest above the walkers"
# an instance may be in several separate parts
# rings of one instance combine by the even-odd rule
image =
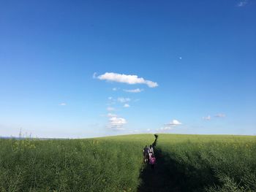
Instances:
[[[138,77],[135,74],[118,74],[113,72],[106,72],[97,77],[99,80],[108,80],[113,82],[124,82],[127,84],[146,84],[149,88],[158,86],[157,82],[151,80],[144,80],[143,77]]]

